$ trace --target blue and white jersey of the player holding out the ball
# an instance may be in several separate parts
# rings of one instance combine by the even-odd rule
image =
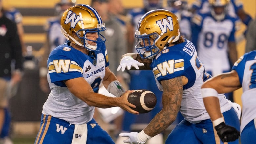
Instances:
[[[105,44],[98,44],[97,47],[101,49],[92,53],[92,57],[69,44],[58,46],[48,58],[47,77],[51,93],[43,105],[42,113],[79,125],[92,120],[94,107],[73,95],[63,80],[83,77],[97,93],[109,63]]]

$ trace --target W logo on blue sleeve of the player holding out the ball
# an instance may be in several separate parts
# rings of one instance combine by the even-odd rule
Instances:
[[[69,72],[70,60],[66,60],[66,59],[54,60],[53,65],[57,73],[60,73],[61,71]]]

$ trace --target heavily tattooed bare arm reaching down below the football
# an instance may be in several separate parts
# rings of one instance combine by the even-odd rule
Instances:
[[[153,137],[174,122],[181,106],[183,84],[186,80],[185,77],[180,76],[161,81],[161,85],[163,86],[163,108],[144,129],[145,134]]]

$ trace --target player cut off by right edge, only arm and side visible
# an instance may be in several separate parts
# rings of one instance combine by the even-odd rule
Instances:
[[[256,143],[256,51],[245,53],[227,73],[222,73],[207,80],[201,87],[203,102],[211,119],[216,124],[225,125],[226,121],[220,113],[218,93],[228,93],[242,87],[241,143]],[[225,131],[223,131],[225,132]],[[222,132],[222,133],[223,133]],[[227,133],[232,138],[236,131]]]

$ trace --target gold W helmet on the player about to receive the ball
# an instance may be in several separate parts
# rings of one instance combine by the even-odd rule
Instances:
[[[142,16],[135,32],[136,50],[142,58],[153,58],[180,38],[178,18],[168,10],[151,10]]]

